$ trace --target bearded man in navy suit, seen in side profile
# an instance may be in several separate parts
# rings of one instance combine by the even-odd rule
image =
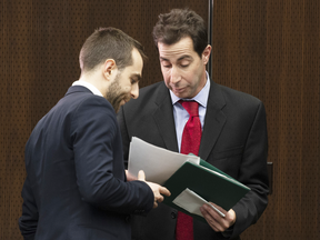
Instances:
[[[19,219],[26,240],[130,239],[130,214],[170,192],[127,181],[116,111],[138,98],[144,53],[124,32],[96,30],[80,52],[81,77],[38,122],[26,146]],[[116,110],[116,111],[114,111]]]

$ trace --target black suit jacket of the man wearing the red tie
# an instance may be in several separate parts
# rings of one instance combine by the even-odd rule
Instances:
[[[163,82],[141,89],[140,97],[118,113],[124,161],[131,137],[178,152],[172,103]],[[267,207],[267,123],[257,98],[211,81],[199,156],[251,188],[232,209],[237,221],[229,234],[253,224]],[[210,182],[208,182],[210,184]],[[170,189],[169,189],[170,190]],[[174,239],[177,210],[164,204],[132,219],[132,239]],[[193,221],[194,240],[223,239],[209,224]]]

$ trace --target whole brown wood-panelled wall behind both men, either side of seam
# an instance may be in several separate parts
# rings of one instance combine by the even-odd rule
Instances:
[[[23,149],[38,120],[79,78],[78,54],[94,29],[112,26],[149,56],[141,87],[161,81],[152,27],[161,12],[206,0],[2,0],[0,8],[0,239],[18,229]],[[318,0],[216,0],[212,78],[260,98],[267,109],[273,193],[243,239],[318,239],[320,3]]]

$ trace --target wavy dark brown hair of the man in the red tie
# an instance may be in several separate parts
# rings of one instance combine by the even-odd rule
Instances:
[[[208,30],[203,19],[189,9],[172,9],[169,13],[159,14],[152,36],[157,48],[158,42],[173,44],[181,38],[190,37],[200,58],[208,46]]]

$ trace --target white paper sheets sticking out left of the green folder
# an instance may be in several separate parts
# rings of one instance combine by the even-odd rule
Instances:
[[[138,177],[139,170],[143,170],[147,181],[163,184],[186,161],[199,164],[200,158],[169,151],[133,137],[128,171]]]

